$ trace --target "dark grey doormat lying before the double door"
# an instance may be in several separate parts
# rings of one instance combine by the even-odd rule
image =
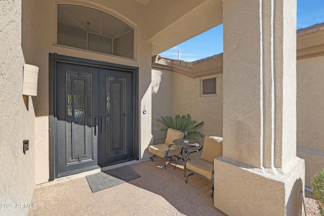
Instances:
[[[136,171],[130,166],[121,166],[107,171],[99,172],[87,176],[87,180],[92,192],[101,191],[113,186],[140,178]]]

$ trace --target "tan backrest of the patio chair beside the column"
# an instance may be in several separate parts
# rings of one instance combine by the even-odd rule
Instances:
[[[222,137],[205,137],[203,150],[201,150],[201,159],[214,163],[216,157],[223,155],[223,138]]]

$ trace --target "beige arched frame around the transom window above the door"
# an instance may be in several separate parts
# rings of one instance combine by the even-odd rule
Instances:
[[[69,46],[65,46],[65,45],[60,45],[58,44],[57,40],[57,30],[58,30],[58,6],[59,5],[66,5],[66,6],[78,6],[78,7],[85,7],[85,8],[89,8],[89,9],[93,9],[93,10],[97,10],[99,12],[108,14],[116,19],[118,19],[121,22],[124,22],[126,25],[130,26],[131,28],[133,28],[133,58],[127,58],[127,57],[123,57],[123,56],[116,56],[116,55],[111,55],[111,54],[106,54],[106,53],[100,53],[100,52],[96,52],[96,51],[92,51],[92,50],[85,50],[85,49],[80,49],[80,48],[75,48],[75,47],[69,47]],[[99,8],[96,7],[94,5],[91,4],[87,4],[87,3],[71,3],[71,2],[56,2],[55,3],[55,9],[54,9],[54,14],[53,14],[53,19],[54,19],[54,25],[53,25],[53,36],[52,36],[52,45],[55,47],[62,47],[62,48],[67,48],[69,50],[76,50],[76,51],[82,51],[82,52],[86,52],[86,53],[94,53],[94,54],[99,54],[99,55],[105,55],[105,56],[109,56],[109,57],[114,57],[114,58],[121,58],[121,59],[126,59],[126,60],[135,60],[137,61],[137,31],[138,31],[138,26],[132,22],[131,20],[127,19],[126,17],[115,13],[113,10],[109,10],[107,8]]]

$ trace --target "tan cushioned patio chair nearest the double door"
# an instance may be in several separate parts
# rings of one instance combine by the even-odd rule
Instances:
[[[153,140],[152,144],[148,147],[148,151],[153,154],[151,160],[153,161],[153,158],[155,156],[165,157],[167,160],[168,158],[170,158],[172,160],[172,156],[179,154],[182,149],[181,147],[174,145],[173,141],[176,139],[182,139],[185,137],[185,135],[187,135],[187,132],[178,131],[176,129],[169,128],[167,132],[167,137],[156,139],[156,140],[165,139],[164,143],[155,144],[156,140]],[[166,162],[165,168],[167,168],[168,162],[169,161]]]

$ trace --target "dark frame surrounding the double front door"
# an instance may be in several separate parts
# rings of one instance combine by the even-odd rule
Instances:
[[[91,66],[104,68],[109,70],[123,71],[129,72],[133,75],[133,159],[139,159],[139,69],[138,67],[127,66],[127,65],[119,65],[108,62],[101,62],[83,58],[76,58],[70,56],[58,55],[56,53],[49,54],[49,181],[53,181],[55,179],[55,175],[57,173],[57,155],[55,155],[55,151],[57,148],[57,140],[55,139],[57,136],[57,64],[58,63],[67,63],[74,64],[78,66]],[[100,167],[98,165],[98,167]],[[90,167],[93,169],[94,167]],[[87,170],[84,170],[87,171]],[[76,171],[77,173],[79,171]]]

